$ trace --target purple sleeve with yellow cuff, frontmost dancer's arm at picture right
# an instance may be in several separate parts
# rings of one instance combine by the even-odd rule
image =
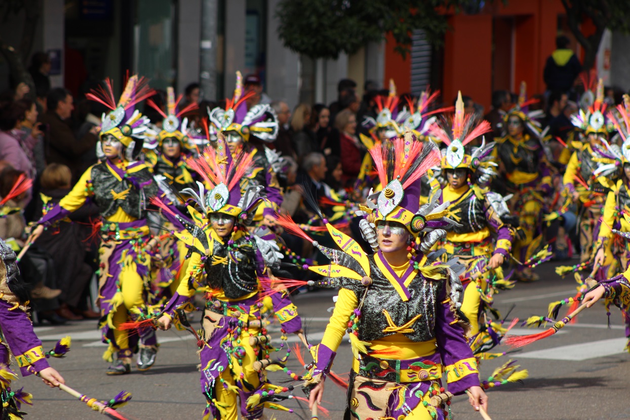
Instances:
[[[449,392],[462,394],[467,388],[479,386],[479,371],[473,351],[464,337],[464,330],[457,325],[450,310],[450,300],[445,301],[443,288],[437,306],[435,323],[435,338],[438,351],[442,358],[442,365],[447,371]]]

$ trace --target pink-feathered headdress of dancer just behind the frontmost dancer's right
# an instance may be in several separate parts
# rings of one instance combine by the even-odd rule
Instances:
[[[473,114],[464,113],[464,101],[462,93],[457,93],[455,102],[455,114],[450,120],[442,119],[429,127],[429,135],[442,141],[446,145],[444,158],[442,158],[442,168],[469,168],[476,170],[481,165],[481,159],[490,154],[492,146],[485,146],[476,149],[473,155],[467,155],[465,146],[486,132],[491,131],[490,122],[483,120],[477,124]]]

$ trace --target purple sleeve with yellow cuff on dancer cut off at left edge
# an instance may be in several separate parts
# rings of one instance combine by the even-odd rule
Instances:
[[[49,364],[28,315],[20,308],[10,310],[12,307],[10,303],[0,300],[0,327],[11,353],[18,361],[22,376],[28,376],[31,375],[28,366],[33,366],[35,371],[42,371]]]

